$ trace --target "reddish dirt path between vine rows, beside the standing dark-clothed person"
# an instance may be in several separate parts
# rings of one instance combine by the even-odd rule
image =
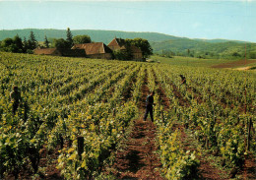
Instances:
[[[143,120],[145,100],[150,90],[148,74],[145,69],[144,84],[139,101],[140,118],[134,121],[134,127],[126,145],[116,151],[112,173],[120,179],[164,179],[160,176],[160,157],[156,150],[156,126],[148,118]],[[114,170],[113,170],[114,169]]]

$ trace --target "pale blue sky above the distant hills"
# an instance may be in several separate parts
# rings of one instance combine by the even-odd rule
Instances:
[[[68,27],[256,42],[256,1],[0,0],[0,30]]]

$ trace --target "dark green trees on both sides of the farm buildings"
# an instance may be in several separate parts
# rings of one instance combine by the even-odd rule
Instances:
[[[64,38],[51,38],[50,40],[44,35],[44,41],[38,42],[35,38],[33,31],[31,31],[29,39],[24,37],[24,40],[17,34],[13,38],[5,38],[0,41],[0,51],[5,52],[15,52],[15,53],[33,53],[33,49],[36,47],[56,47],[57,49],[70,49],[74,44],[80,43],[91,43],[93,42],[89,35],[76,35],[73,34],[70,28],[66,31],[66,39]],[[134,38],[125,39],[125,46],[127,51],[114,51],[113,57],[120,60],[130,60],[132,59],[131,46],[135,45],[139,47],[142,51],[143,58],[147,58],[153,54],[153,49],[151,44],[147,39]]]

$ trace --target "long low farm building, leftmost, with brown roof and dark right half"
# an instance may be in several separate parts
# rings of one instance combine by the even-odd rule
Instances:
[[[57,48],[36,48],[33,54],[65,56],[65,57],[86,57],[86,53],[81,49],[57,49]]]

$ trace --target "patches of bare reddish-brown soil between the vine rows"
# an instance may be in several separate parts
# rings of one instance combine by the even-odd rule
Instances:
[[[255,61],[256,62],[256,61]],[[157,92],[160,94],[160,99],[164,109],[167,110],[170,108],[170,99],[162,90],[160,82],[154,72],[155,83],[158,86]],[[133,80],[135,82],[135,80]],[[179,104],[183,106],[189,106],[189,101],[183,96],[180,91],[171,84],[173,87],[173,93],[176,98],[178,98]],[[190,91],[192,89],[189,89]],[[160,157],[157,153],[158,143],[156,142],[156,125],[151,122],[151,119],[148,117],[147,121],[143,120],[143,113],[145,111],[145,99],[149,94],[148,88],[148,77],[144,79],[144,85],[141,88],[142,95],[138,107],[141,112],[141,117],[134,121],[134,127],[132,127],[132,132],[127,137],[126,145],[116,151],[116,158],[111,173],[114,174],[118,179],[158,179],[163,180],[164,178],[160,175]],[[131,90],[128,89],[125,94],[126,98],[131,97]],[[202,102],[202,97],[200,93],[196,93],[199,98],[199,103]],[[156,99],[157,101],[157,99]],[[178,129],[181,132],[181,142],[182,147],[185,150],[196,150],[191,144],[192,139],[186,133],[184,125],[175,124],[173,126],[173,131]],[[57,157],[59,147],[57,150],[48,152],[46,149],[40,151],[41,159],[39,162],[39,167],[44,168],[45,174],[39,174],[40,177],[36,179],[63,179],[60,176],[60,171],[56,169]],[[198,156],[200,159],[199,173],[201,174],[202,179],[207,180],[218,180],[222,179],[220,174],[222,173],[220,169],[211,165],[207,158],[203,155]],[[243,167],[237,173],[242,176],[243,179],[254,179],[256,177],[255,171],[255,159],[252,154],[248,155],[245,158]],[[32,172],[27,168],[24,169],[19,178],[21,179],[32,179]],[[8,176],[7,179],[14,179],[13,176]]]

